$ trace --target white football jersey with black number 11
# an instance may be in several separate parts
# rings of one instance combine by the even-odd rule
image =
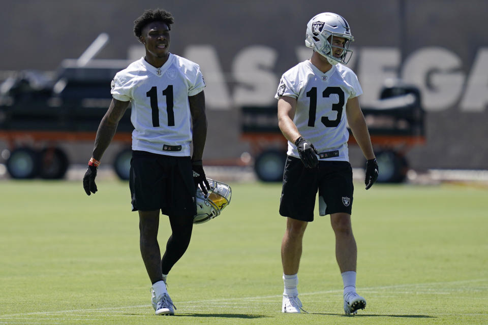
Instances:
[[[118,72],[112,81],[112,96],[131,101],[132,149],[171,156],[190,156],[192,119],[188,96],[205,87],[198,64],[169,54],[161,68],[141,59]],[[180,151],[163,150],[181,146]]]

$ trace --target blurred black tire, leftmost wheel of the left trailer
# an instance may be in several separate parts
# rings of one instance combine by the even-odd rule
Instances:
[[[10,177],[32,179],[39,171],[39,154],[30,148],[18,148],[10,153],[6,163]]]

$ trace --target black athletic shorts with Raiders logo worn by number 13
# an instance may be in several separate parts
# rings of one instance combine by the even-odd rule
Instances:
[[[348,161],[319,160],[318,168],[305,168],[299,158],[288,156],[283,175],[280,214],[302,221],[314,220],[317,190],[326,204],[320,215],[345,212],[351,214],[352,168]]]

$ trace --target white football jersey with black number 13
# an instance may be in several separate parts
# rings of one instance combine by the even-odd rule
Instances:
[[[349,161],[346,103],[361,93],[359,81],[351,69],[338,63],[323,73],[306,60],[283,74],[275,98],[296,99],[293,122],[301,136],[312,142],[318,152],[339,150],[338,156],[320,160]],[[299,157],[295,144],[290,141],[287,154]]]

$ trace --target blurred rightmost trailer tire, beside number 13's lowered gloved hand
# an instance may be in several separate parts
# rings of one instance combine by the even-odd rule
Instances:
[[[393,150],[376,153],[378,162],[378,183],[402,183],[407,177],[407,159]]]

